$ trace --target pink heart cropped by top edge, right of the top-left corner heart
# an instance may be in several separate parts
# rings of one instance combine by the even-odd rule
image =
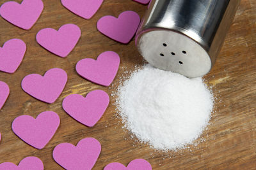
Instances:
[[[65,8],[84,19],[90,19],[99,10],[103,0],[61,0]]]

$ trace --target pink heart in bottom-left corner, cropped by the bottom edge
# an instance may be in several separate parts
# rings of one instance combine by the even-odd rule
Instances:
[[[20,161],[19,166],[12,162],[0,164],[0,170],[43,170],[44,164],[38,157],[26,157]]]

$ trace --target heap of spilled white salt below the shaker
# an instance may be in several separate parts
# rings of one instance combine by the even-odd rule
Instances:
[[[118,87],[124,127],[157,150],[193,143],[211,117],[213,97],[202,78],[145,66]]]

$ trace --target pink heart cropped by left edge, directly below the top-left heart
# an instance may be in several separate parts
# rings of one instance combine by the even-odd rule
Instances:
[[[3,48],[0,47],[0,71],[14,73],[20,66],[26,44],[20,39],[10,39],[6,41]]]

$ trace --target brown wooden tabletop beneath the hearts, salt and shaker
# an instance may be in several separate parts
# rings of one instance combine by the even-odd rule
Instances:
[[[0,5],[8,0],[2,0]],[[16,0],[21,2],[21,0]],[[116,118],[114,97],[111,97],[106,113],[94,127],[86,127],[69,117],[61,107],[63,99],[70,94],[85,96],[95,89],[108,92],[116,90],[124,71],[143,64],[134,46],[134,40],[122,45],[97,31],[96,23],[104,15],[118,16],[122,11],[133,10],[142,17],[147,6],[131,0],[106,0],[90,20],[77,17],[65,9],[60,0],[44,0],[44,11],[29,31],[24,31],[0,18],[0,45],[12,38],[20,38],[27,45],[27,52],[14,74],[0,73],[0,80],[10,86],[10,96],[0,111],[0,163],[13,162],[28,156],[42,159],[45,169],[61,169],[52,159],[54,146],[68,142],[74,145],[83,138],[93,137],[100,141],[102,152],[93,169],[103,169],[110,162],[127,165],[136,158],[148,160],[153,169],[256,169],[256,1],[242,0],[234,23],[227,34],[224,46],[211,73],[205,81],[212,86],[216,99],[210,125],[200,139],[204,142],[191,146],[190,150],[157,153],[147,145],[129,139]],[[45,27],[58,29],[63,24],[76,24],[82,36],[76,48],[63,59],[36,43],[36,32]],[[86,57],[96,59],[106,51],[120,55],[121,64],[113,86],[101,87],[84,80],[75,71],[77,61]],[[31,73],[44,74],[53,67],[67,71],[67,85],[53,104],[40,102],[26,94],[20,87],[24,76]],[[42,111],[55,111],[61,124],[42,150],[37,150],[20,140],[12,132],[12,121],[20,115],[36,117]],[[198,141],[200,141],[198,139]]]

